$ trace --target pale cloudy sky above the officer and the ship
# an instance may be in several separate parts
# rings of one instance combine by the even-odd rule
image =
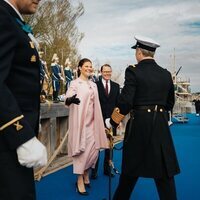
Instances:
[[[109,63],[119,82],[128,65],[136,64],[135,35],[160,43],[157,63],[169,71],[178,70],[182,80],[190,79],[191,91],[200,92],[200,0],[76,0],[84,14],[78,19],[84,38],[82,57],[98,68]]]

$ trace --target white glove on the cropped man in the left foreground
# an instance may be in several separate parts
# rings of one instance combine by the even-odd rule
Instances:
[[[42,167],[47,164],[46,147],[36,137],[19,146],[17,156],[19,163],[28,168]]]

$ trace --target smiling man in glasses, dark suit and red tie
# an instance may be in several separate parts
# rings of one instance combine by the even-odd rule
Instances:
[[[111,117],[112,111],[116,106],[117,98],[119,96],[119,84],[111,80],[112,68],[109,64],[104,64],[101,67],[101,75],[101,78],[96,82],[96,84],[99,93],[102,115],[105,121],[105,119]],[[113,135],[116,135],[116,129],[113,130]],[[104,174],[107,176],[109,175],[110,170],[110,159],[110,151],[109,149],[106,149],[104,157]],[[97,177],[98,161],[96,163],[95,169],[92,170],[91,178],[93,179]],[[111,173],[111,176],[114,176],[114,174]]]

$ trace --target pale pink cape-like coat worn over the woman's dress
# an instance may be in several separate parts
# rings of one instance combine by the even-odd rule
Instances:
[[[94,82],[88,81],[89,86],[94,92],[94,138],[96,149],[108,148],[108,140],[105,134],[105,127],[99,103],[97,86]],[[68,155],[76,156],[85,150],[86,134],[84,119],[86,118],[89,98],[84,94],[85,81],[77,78],[71,81],[67,90],[66,98],[77,94],[80,104],[71,104],[69,106],[69,137],[68,137]]]

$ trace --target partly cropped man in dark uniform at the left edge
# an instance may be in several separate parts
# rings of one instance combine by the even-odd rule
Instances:
[[[35,200],[33,167],[47,162],[39,127],[40,62],[21,14],[40,0],[0,1],[0,199]]]

